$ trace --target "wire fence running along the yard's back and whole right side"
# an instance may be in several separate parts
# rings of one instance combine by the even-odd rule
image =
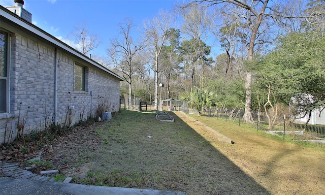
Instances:
[[[121,110],[153,111],[153,102],[141,102],[139,98],[132,96],[129,103],[128,95],[121,96]],[[159,108],[159,105],[157,105]],[[189,108],[185,101],[168,101],[163,102],[164,111],[182,111],[188,114],[198,114],[195,109]],[[325,112],[324,110],[322,112]],[[243,122],[244,110],[238,108],[216,108],[204,107],[202,115],[216,117],[225,120],[225,122],[235,123],[239,126]],[[265,112],[252,112],[253,128],[256,131],[265,131],[273,136],[281,137],[283,140],[300,142],[303,145],[316,145],[325,147],[325,114],[318,114],[318,117],[312,124],[301,122],[301,120],[288,120],[283,114],[277,114],[273,120],[272,129],[270,129],[269,120]],[[272,117],[272,116],[271,116]]]

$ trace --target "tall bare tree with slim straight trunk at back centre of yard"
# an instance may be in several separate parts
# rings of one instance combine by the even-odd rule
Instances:
[[[171,27],[173,17],[170,13],[160,11],[152,20],[145,22],[143,34],[148,39],[147,46],[152,53],[154,61],[154,80],[155,80],[155,97],[154,109],[158,109],[158,73],[159,73],[159,55],[163,46],[167,42],[168,30]]]

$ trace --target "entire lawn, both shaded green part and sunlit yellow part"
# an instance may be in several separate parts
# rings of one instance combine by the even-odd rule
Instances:
[[[97,124],[88,137],[82,129],[70,135],[84,144],[69,140],[69,147],[53,144],[56,152],[49,156],[57,165],[69,162],[60,172],[82,184],[189,195],[322,194],[325,190],[324,151],[283,142],[242,124],[180,112],[172,115],[175,122],[160,122],[153,112],[121,111],[111,121]],[[218,142],[196,120],[235,144]]]

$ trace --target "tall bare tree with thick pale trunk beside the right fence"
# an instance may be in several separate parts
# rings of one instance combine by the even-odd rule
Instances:
[[[318,0],[315,0],[318,1]],[[322,0],[320,0],[322,1]],[[241,32],[244,37],[241,41],[246,45],[246,59],[247,64],[253,64],[253,59],[256,54],[259,54],[265,46],[268,45],[272,40],[275,39],[275,28],[272,27],[272,23],[285,19],[299,19],[301,16],[297,15],[296,11],[290,11],[293,9],[293,5],[299,5],[300,0],[294,1],[295,4],[281,4],[285,9],[279,8],[275,1],[265,0],[197,0],[191,1],[185,7],[188,6],[204,6],[212,7],[216,10],[224,10],[236,16],[236,22],[241,22]],[[291,7],[290,7],[291,6]],[[294,7],[296,10],[297,7]],[[285,12],[283,12],[285,10]],[[296,15],[295,15],[296,14]],[[288,21],[285,21],[288,25]],[[291,20],[294,21],[294,20]],[[294,27],[295,29],[296,27]],[[248,71],[245,78],[245,89],[246,89],[246,100],[245,100],[245,113],[243,120],[245,122],[253,123],[253,117],[251,114],[251,83],[252,73]]]

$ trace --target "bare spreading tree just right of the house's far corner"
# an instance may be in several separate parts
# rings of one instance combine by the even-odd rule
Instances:
[[[122,72],[123,78],[129,86],[129,105],[132,106],[132,78],[138,70],[139,64],[134,63],[136,53],[144,48],[144,41],[134,42],[130,36],[131,29],[135,27],[133,20],[125,18],[124,23],[118,24],[119,37],[111,39],[108,47],[108,55],[112,59],[114,66]]]

